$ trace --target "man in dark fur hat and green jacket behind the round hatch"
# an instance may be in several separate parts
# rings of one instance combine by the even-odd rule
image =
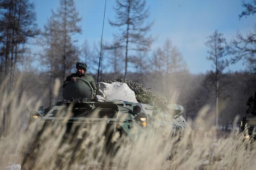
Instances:
[[[87,65],[83,62],[77,62],[76,63],[76,73],[73,73],[69,76],[67,76],[66,80],[64,81],[64,84],[63,84],[63,88],[65,87],[65,85],[67,84],[68,81],[76,81],[76,78],[82,78],[86,81],[88,81],[88,83],[90,83],[90,85],[92,86],[93,88],[93,97],[95,97],[96,95],[96,90],[97,90],[97,87],[95,85],[95,81],[94,81],[94,78],[86,73],[86,69],[87,68]]]

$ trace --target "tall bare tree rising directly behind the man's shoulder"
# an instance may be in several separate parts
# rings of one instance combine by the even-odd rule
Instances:
[[[54,31],[59,33],[58,46],[62,55],[61,79],[64,81],[66,73],[70,73],[70,70],[74,67],[74,62],[78,59],[79,50],[75,46],[72,36],[75,33],[81,33],[81,26],[78,25],[81,18],[74,5],[74,0],[60,0],[60,7],[52,15],[58,24]]]

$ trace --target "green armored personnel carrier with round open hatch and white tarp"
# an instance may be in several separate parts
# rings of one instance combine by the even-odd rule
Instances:
[[[152,128],[172,127],[174,131],[190,128],[182,116],[182,105],[171,104],[163,110],[138,103],[134,92],[125,83],[100,82],[97,86],[98,92],[93,98],[93,89],[87,81],[81,78],[70,81],[63,89],[64,101],[47,108],[40,107],[39,111],[32,113],[32,117],[62,122],[69,115],[67,131],[76,122],[107,122],[107,128],[111,131],[120,131],[134,142],[141,133]]]

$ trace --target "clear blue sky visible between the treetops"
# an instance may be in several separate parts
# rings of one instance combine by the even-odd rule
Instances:
[[[206,38],[215,30],[223,33],[227,42],[234,39],[237,31],[246,34],[256,24],[256,15],[243,17],[242,0],[147,0],[150,10],[149,20],[154,21],[151,34],[156,38],[152,50],[162,47],[168,37],[178,47],[191,73],[205,73],[212,69],[206,59]],[[56,11],[59,0],[34,0],[37,23],[42,29],[51,15]],[[101,29],[105,0],[75,0],[76,8],[82,17],[82,34],[76,36],[81,45],[85,39],[93,45],[101,39]],[[114,19],[115,0],[107,0],[103,40],[111,41],[117,31],[108,24]],[[244,70],[242,62],[230,65],[230,71]]]

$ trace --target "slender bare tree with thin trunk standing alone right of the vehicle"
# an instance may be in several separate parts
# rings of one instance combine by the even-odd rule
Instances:
[[[216,92],[216,128],[218,127],[218,105],[219,105],[219,75],[222,73],[223,69],[228,66],[228,60],[224,60],[228,53],[229,46],[226,43],[226,39],[223,38],[222,33],[218,33],[216,30],[212,35],[208,37],[205,43],[209,47],[207,57],[208,60],[213,62],[215,68],[215,92]]]

